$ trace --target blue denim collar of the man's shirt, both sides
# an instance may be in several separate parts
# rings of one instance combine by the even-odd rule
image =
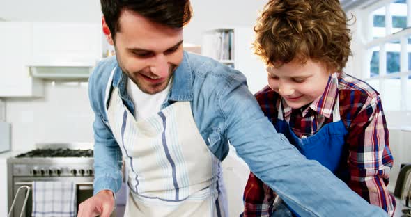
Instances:
[[[172,101],[192,101],[193,99],[193,75],[192,67],[189,64],[188,54],[183,51],[183,61],[176,68],[173,74],[173,86],[166,102]],[[113,86],[118,88],[122,99],[129,101],[127,94],[127,74],[120,67],[116,67],[113,77]]]

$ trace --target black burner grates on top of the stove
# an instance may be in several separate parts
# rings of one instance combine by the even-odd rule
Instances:
[[[30,152],[19,154],[16,157],[93,157],[93,150],[71,150],[68,148],[57,149],[36,149]]]

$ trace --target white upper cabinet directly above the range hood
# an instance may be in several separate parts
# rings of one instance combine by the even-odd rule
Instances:
[[[101,58],[100,24],[33,23],[32,66],[93,67]]]

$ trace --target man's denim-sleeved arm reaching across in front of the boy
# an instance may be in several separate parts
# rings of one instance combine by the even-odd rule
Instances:
[[[307,160],[264,117],[245,78],[219,94],[226,136],[254,174],[301,216],[386,216],[317,161]]]

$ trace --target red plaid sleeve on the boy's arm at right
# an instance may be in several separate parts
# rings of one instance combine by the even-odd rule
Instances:
[[[387,190],[393,157],[380,97],[367,102],[352,119],[347,138],[350,170],[348,186],[369,203],[393,216],[395,200]]]

